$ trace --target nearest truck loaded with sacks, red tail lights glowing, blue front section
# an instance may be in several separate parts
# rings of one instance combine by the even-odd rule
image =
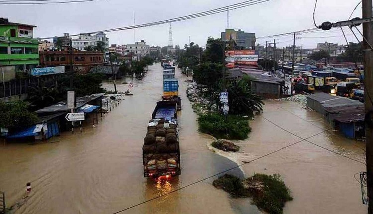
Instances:
[[[171,178],[181,174],[177,104],[158,101],[143,145],[144,177]]]

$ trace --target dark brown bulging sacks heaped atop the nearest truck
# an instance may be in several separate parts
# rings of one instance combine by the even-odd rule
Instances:
[[[176,120],[150,120],[144,138],[144,154],[168,154],[179,152],[178,125]]]

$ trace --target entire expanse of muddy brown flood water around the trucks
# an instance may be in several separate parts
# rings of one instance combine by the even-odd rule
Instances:
[[[31,182],[31,194],[16,214],[113,214],[127,208],[121,213],[260,213],[248,199],[232,199],[215,189],[214,178],[193,184],[236,163],[207,148],[212,139],[197,131],[197,117],[185,93],[187,77],[178,70],[176,76],[182,98],[179,178],[162,183],[143,178],[143,137],[162,94],[162,67],[155,64],[143,80],[134,80],[134,96],[126,96],[94,127],[86,122],[82,135],[64,132],[49,143],[0,145],[0,191],[6,193],[7,206],[22,198],[26,183]],[[111,84],[104,87],[113,90]],[[118,81],[119,91],[127,87]],[[237,142],[243,153],[232,158],[236,162],[259,158],[309,137],[315,144],[364,162],[363,142],[347,140],[333,130],[323,132],[330,128],[323,118],[293,102],[266,102],[263,115],[250,125],[250,138]],[[353,177],[365,166],[309,142],[301,141],[242,169],[231,173],[279,173],[283,177],[294,195],[285,213],[366,213],[360,184]]]

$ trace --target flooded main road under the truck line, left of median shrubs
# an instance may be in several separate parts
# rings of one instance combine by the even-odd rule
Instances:
[[[54,143],[1,145],[0,190],[6,193],[7,206],[17,202],[31,182],[30,197],[16,214],[111,214],[236,166],[207,149],[211,138],[198,133],[196,115],[185,93],[187,77],[177,71],[182,98],[178,115],[182,174],[166,183],[143,178],[143,138],[162,95],[162,75],[160,64],[149,67],[143,80],[134,81],[134,96],[126,96],[98,125],[87,121],[82,135],[64,132],[51,140]],[[103,86],[113,90],[111,84]],[[127,87],[117,85],[123,92]],[[232,172],[242,175],[239,169]],[[122,213],[236,213],[234,200],[215,189],[213,179]],[[249,204],[242,209],[256,210]]]

